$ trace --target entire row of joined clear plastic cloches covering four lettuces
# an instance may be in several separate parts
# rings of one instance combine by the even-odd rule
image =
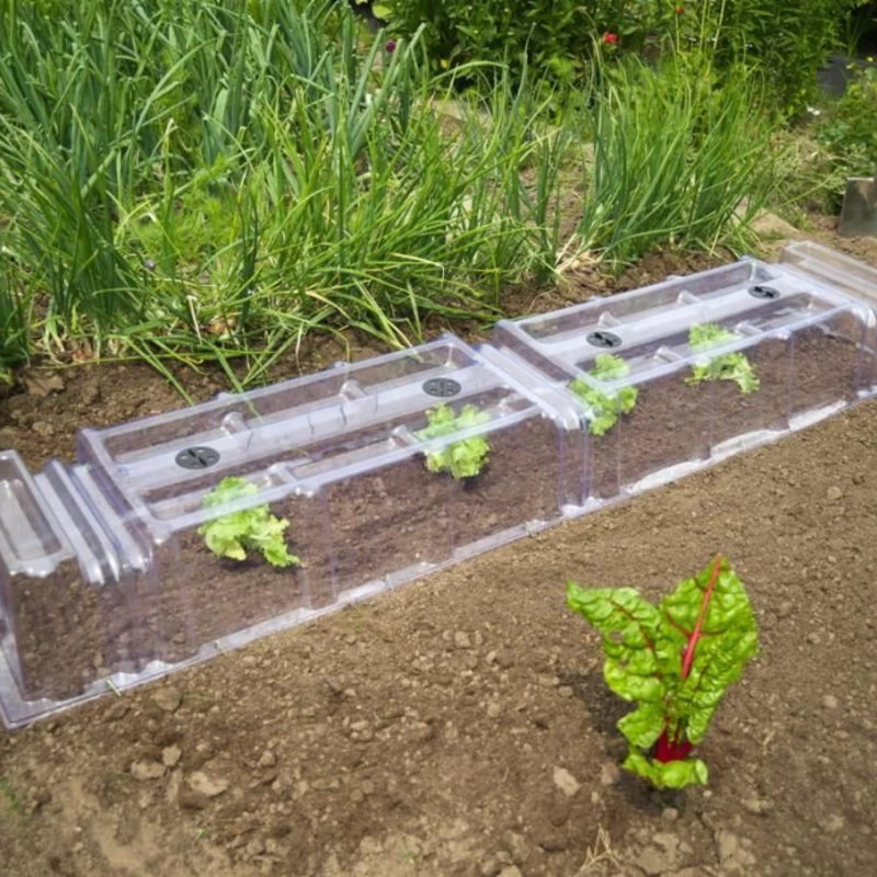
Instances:
[[[873,272],[789,252],[801,270],[742,260],[502,322],[497,348],[445,337],[86,429],[79,465],[34,479],[7,453],[4,719],[300,623],[867,397]]]

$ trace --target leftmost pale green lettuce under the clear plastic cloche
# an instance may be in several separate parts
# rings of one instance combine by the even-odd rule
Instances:
[[[225,478],[204,498],[203,505],[215,509],[257,493],[259,488],[243,478]],[[218,557],[246,560],[248,551],[261,551],[272,567],[300,567],[283,537],[288,526],[288,521],[275,517],[264,503],[207,521],[198,527],[198,535]]]

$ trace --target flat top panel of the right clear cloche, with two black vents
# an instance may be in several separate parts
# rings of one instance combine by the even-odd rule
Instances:
[[[716,357],[810,323],[836,322],[841,315],[848,315],[854,341],[856,326],[873,321],[867,307],[817,278],[747,259],[554,314],[501,321],[496,340],[556,381],[578,378],[613,392],[702,360],[693,327],[727,330],[729,340],[709,349]],[[619,357],[625,367],[616,376],[608,369],[608,377],[595,376],[601,354]]]

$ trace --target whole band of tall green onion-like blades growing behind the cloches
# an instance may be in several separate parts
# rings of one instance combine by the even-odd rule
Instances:
[[[749,86],[622,67],[565,102],[384,46],[331,2],[0,0],[0,374],[87,339],[241,388],[310,332],[400,348],[491,320],[576,246],[738,241],[732,207],[770,183]],[[592,139],[570,243],[559,194]]]

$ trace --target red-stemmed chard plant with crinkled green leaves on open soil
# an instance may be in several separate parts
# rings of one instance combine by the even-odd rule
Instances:
[[[576,582],[567,604],[603,636],[606,684],[637,703],[618,722],[629,744],[624,767],[659,788],[706,785],[706,764],[688,755],[758,652],[755,617],[728,562],[719,555],[658,606],[633,588],[585,591]]]

